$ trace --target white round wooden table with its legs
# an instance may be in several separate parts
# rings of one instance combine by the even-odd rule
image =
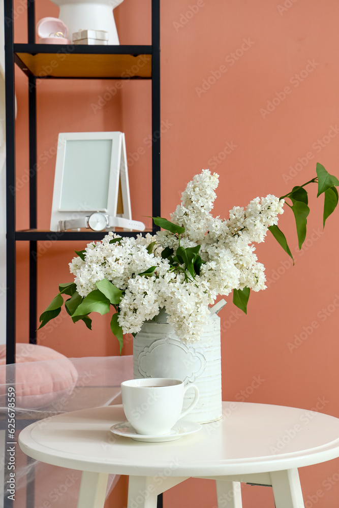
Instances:
[[[219,506],[241,507],[239,482],[270,485],[276,508],[303,506],[298,467],[339,457],[339,419],[294,407],[223,402],[223,418],[176,441],[113,435],[121,405],[57,415],[29,425],[20,448],[34,459],[83,471],[78,507],[104,506],[108,473],[128,474],[128,508],[155,508],[157,495],[187,478],[217,481]]]

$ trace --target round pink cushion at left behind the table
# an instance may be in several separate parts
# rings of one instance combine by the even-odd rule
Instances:
[[[6,345],[0,345],[0,384],[3,403],[6,392]],[[50,347],[36,344],[16,344],[16,366],[10,366],[8,374],[14,374],[17,408],[48,406],[70,394],[77,382],[78,372],[66,356]],[[8,381],[7,381],[8,382]]]

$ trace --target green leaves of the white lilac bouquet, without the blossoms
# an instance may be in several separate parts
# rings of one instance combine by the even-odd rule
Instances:
[[[338,204],[338,191],[336,189],[339,186],[339,180],[330,175],[326,169],[319,163],[317,163],[317,176],[312,180],[304,183],[303,185],[297,185],[292,190],[282,196],[280,199],[287,199],[286,204],[291,208],[298,236],[299,250],[306,238],[306,227],[307,217],[310,213],[309,198],[305,187],[312,183],[318,184],[317,198],[324,194],[324,211],[323,211],[323,227],[327,218],[333,213]],[[178,240],[178,247],[174,251],[174,248],[166,247],[161,253],[163,259],[167,259],[170,265],[170,271],[176,272],[177,274],[182,273],[184,280],[194,281],[197,276],[200,275],[201,265],[204,263],[200,256],[200,245],[194,247],[184,248],[180,245],[180,237],[184,233],[185,228],[171,223],[169,220],[163,217],[152,217],[155,225],[169,231],[176,236]],[[279,229],[278,226],[270,226],[269,231],[272,233],[276,241],[282,246],[285,252],[293,260],[291,250],[288,246],[284,233]],[[121,245],[122,238],[114,238],[109,241],[110,244],[118,243]],[[153,252],[157,242],[152,241],[146,248],[148,254]],[[95,245],[95,244],[94,244]],[[82,261],[86,261],[86,249],[75,251]],[[132,255],[132,254],[131,254]],[[293,260],[294,264],[294,260]],[[150,266],[147,270],[137,274],[143,277],[157,276],[157,266]],[[68,296],[64,301],[64,295]],[[91,329],[91,319],[89,314],[91,312],[98,312],[101,315],[110,312],[111,307],[114,308],[115,312],[111,318],[111,331],[117,337],[120,344],[120,354],[122,348],[122,328],[118,323],[119,318],[119,304],[122,298],[125,296],[125,291],[121,291],[111,281],[107,279],[99,280],[96,282],[96,289],[91,291],[86,297],[81,297],[76,289],[74,282],[59,284],[59,293],[53,298],[48,307],[40,316],[39,329],[45,326],[50,320],[54,319],[60,311],[61,307],[65,303],[67,313],[71,316],[74,323],[83,321],[87,328]],[[233,290],[233,303],[241,309],[243,312],[247,312],[247,304],[250,297],[250,288],[234,289]],[[135,335],[135,334],[133,334]]]

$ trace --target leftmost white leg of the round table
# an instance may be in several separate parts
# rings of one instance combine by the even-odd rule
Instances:
[[[104,508],[108,474],[82,471],[78,508]]]

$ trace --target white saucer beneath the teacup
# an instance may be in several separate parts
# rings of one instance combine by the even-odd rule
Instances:
[[[144,436],[143,434],[138,434],[129,422],[117,423],[112,425],[109,430],[118,436],[131,437],[134,441],[160,443],[165,441],[175,441],[176,439],[180,439],[182,436],[194,434],[194,432],[198,432],[200,429],[200,423],[179,420],[171,429],[169,434],[161,436]]]

